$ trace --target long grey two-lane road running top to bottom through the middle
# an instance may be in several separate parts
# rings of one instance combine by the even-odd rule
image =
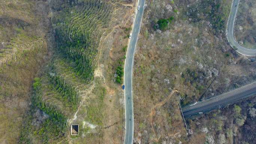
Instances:
[[[143,16],[145,0],[139,0],[140,10],[137,10],[135,21],[132,28],[132,35],[128,45],[125,68],[124,68],[124,85],[125,85],[125,139],[124,144],[133,143],[134,134],[134,117],[133,117],[133,100],[132,100],[132,67],[134,52],[137,38],[140,31],[141,19]]]

